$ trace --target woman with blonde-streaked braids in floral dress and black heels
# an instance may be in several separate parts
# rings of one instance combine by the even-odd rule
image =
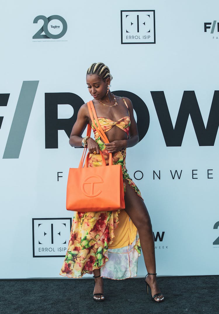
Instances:
[[[76,212],[60,274],[78,278],[84,273],[93,273],[95,280],[93,299],[103,301],[103,276],[111,279],[136,276],[140,238],[148,272],[145,277],[147,293],[150,287],[152,300],[160,303],[164,297],[156,280],[154,238],[150,217],[140,191],[127,174],[125,164],[126,147],[136,145],[139,140],[133,106],[128,98],[121,98],[110,92],[111,80],[109,68],[103,63],[93,63],[88,68],[86,76],[88,90],[93,96],[93,105],[99,123],[109,143],[103,143],[95,130],[87,104],[81,106],[78,111],[69,143],[74,147],[87,146],[90,153],[88,163],[90,167],[101,165],[100,150],[107,165],[109,153],[112,153],[113,163],[122,166],[126,209],[111,212]],[[95,140],[90,137],[82,138],[88,123],[92,126]]]

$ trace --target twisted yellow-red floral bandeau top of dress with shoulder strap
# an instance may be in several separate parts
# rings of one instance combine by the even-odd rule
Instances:
[[[124,101],[126,107],[128,108],[125,99],[122,98]],[[95,121],[95,120],[94,120]],[[99,124],[101,125],[104,133],[109,131],[112,127],[115,125],[126,132],[127,136],[129,135],[129,128],[130,128],[130,116],[124,116],[123,118],[119,119],[118,121],[112,121],[105,117],[98,117]],[[96,124],[97,125],[97,124]],[[99,138],[99,134],[97,133],[96,129],[93,127],[93,123],[91,124],[91,127],[94,132],[95,139]]]

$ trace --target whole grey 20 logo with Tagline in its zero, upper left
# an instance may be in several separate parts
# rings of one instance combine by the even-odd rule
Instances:
[[[38,15],[33,23],[37,24],[40,20],[43,20],[43,26],[33,35],[33,39],[58,39],[67,32],[66,20],[60,15],[51,15],[48,18],[44,15]],[[45,35],[42,34],[43,32]]]

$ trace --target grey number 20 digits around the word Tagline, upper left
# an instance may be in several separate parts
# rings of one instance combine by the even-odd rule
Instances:
[[[65,33],[67,32],[67,23],[66,20],[63,19],[63,17],[61,17],[60,15],[51,15],[48,18],[45,17],[44,15],[38,15],[35,17],[33,23],[37,24],[39,20],[43,20],[44,24],[43,26],[36,32],[35,35],[33,35],[33,39],[45,39],[45,38],[51,38],[51,39],[57,39],[57,38],[61,38],[62,36],[65,35]],[[59,34],[51,34],[50,31],[48,30],[48,23],[53,20],[59,20],[63,26],[61,33]],[[42,35],[42,32],[45,33],[45,35]]]

